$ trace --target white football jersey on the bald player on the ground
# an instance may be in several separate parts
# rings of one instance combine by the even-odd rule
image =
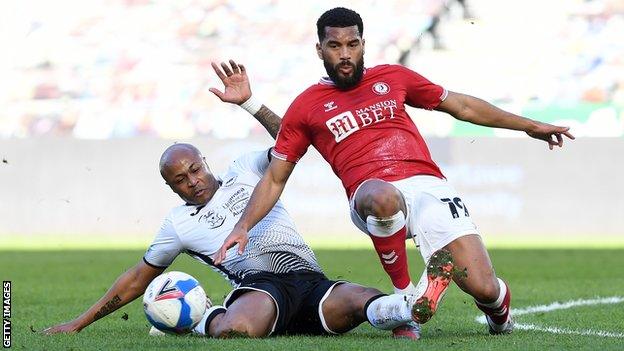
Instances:
[[[267,150],[235,160],[225,174],[217,177],[221,186],[205,206],[182,205],[169,212],[143,260],[165,268],[185,252],[224,275],[234,286],[244,276],[258,272],[322,272],[281,201],[249,231],[249,243],[242,255],[236,245],[227,251],[220,265],[214,265],[210,256],[219,250],[240,219],[268,165]]]

